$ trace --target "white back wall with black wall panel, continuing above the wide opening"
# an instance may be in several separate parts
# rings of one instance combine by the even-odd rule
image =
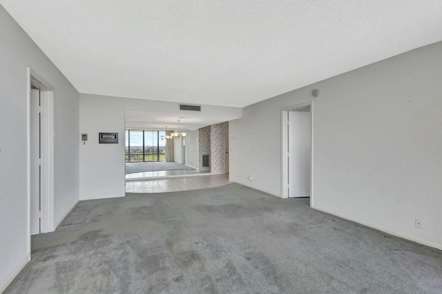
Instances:
[[[79,105],[79,132],[89,136],[86,145],[79,140],[77,142],[80,150],[80,198],[124,197],[125,111],[157,112],[158,116],[166,116],[177,112],[179,103],[80,94]],[[242,113],[238,107],[203,106],[202,114],[205,116],[222,114],[240,117]],[[119,144],[98,144],[99,132],[118,132]]]

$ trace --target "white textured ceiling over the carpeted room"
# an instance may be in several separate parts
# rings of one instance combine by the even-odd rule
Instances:
[[[441,0],[0,0],[81,93],[243,107],[442,40]]]

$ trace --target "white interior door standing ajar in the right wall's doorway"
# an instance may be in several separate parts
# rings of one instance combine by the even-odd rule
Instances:
[[[310,112],[289,112],[289,197],[310,196]]]

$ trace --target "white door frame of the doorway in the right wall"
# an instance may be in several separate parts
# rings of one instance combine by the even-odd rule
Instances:
[[[314,136],[314,103],[307,101],[281,108],[281,198],[289,198],[289,112],[310,107],[310,207],[314,207],[313,190],[313,136]]]

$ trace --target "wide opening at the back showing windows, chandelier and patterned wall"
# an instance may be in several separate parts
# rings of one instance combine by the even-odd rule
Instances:
[[[202,126],[178,119],[162,125],[157,121],[170,118],[141,122],[128,120],[128,111],[125,116],[126,187],[139,180],[229,174],[229,122]]]

